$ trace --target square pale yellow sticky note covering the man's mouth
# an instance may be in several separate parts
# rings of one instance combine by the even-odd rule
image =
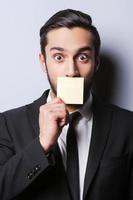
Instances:
[[[84,78],[58,77],[57,97],[66,104],[83,104]]]

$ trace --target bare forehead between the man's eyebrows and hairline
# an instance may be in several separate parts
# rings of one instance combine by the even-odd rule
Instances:
[[[74,27],[58,28],[48,32],[46,49],[50,49],[54,46],[64,49],[76,50],[83,46],[93,47],[93,35],[90,31]]]

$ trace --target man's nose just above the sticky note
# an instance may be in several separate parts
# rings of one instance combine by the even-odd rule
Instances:
[[[74,60],[69,60],[66,63],[66,77],[78,77],[79,76],[79,70],[77,68],[76,63]]]

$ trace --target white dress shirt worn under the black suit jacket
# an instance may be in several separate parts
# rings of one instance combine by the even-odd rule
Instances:
[[[50,92],[47,98],[47,102],[51,101]],[[88,160],[92,124],[93,124],[93,115],[92,115],[92,95],[86,101],[86,103],[78,109],[81,114],[81,118],[78,123],[75,125],[75,130],[77,134],[77,145],[78,145],[78,156],[79,156],[79,186],[80,186],[80,200],[82,200],[83,189],[84,189],[84,178],[86,172],[86,165]],[[71,114],[71,113],[70,113]],[[58,138],[58,145],[61,151],[63,164],[66,170],[66,136],[69,124],[65,125],[62,129],[62,132]]]

